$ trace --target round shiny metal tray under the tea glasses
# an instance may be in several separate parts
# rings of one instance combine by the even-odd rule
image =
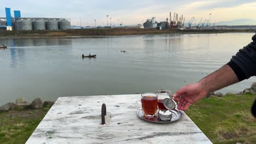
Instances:
[[[181,111],[176,110],[176,109],[171,110],[171,111],[172,111],[172,119],[171,119],[171,121],[167,121],[167,122],[166,121],[161,121],[161,119],[158,117],[158,112],[157,112],[156,116],[151,117],[151,118],[144,116],[144,113],[142,112],[142,110],[138,110],[136,113],[137,113],[137,116],[139,118],[142,118],[142,119],[144,119],[145,121],[148,121],[148,122],[171,123],[171,122],[178,121],[179,118],[181,118],[181,116],[182,116]]]

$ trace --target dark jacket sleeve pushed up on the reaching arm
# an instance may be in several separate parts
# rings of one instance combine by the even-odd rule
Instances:
[[[256,34],[252,37],[252,40],[252,43],[240,49],[235,56],[232,56],[228,63],[240,81],[256,75]]]

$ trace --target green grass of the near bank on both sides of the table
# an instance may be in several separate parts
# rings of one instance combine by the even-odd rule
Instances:
[[[186,112],[213,143],[256,143],[256,95],[205,98]],[[0,143],[25,143],[50,107],[0,113]]]

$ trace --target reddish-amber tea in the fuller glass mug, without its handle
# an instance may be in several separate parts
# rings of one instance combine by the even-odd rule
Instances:
[[[142,110],[145,116],[154,116],[158,110],[158,97],[145,96],[141,99]]]

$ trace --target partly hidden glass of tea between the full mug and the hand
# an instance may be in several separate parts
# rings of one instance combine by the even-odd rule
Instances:
[[[172,92],[168,90],[159,90],[158,92],[156,92],[156,94],[158,94],[158,109],[167,110],[166,107],[164,106],[164,99],[172,99]]]

